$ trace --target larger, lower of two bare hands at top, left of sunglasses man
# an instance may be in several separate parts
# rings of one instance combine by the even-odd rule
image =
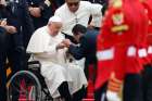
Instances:
[[[30,15],[35,16],[35,17],[40,17],[41,16],[41,11],[40,8],[28,8]]]

